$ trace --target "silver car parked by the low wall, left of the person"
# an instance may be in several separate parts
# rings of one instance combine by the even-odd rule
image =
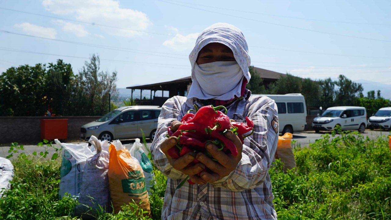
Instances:
[[[151,141],[158,126],[159,106],[122,106],[104,115],[100,119],[84,124],[80,138],[90,139],[91,135],[100,140],[131,139],[142,137],[143,130]]]

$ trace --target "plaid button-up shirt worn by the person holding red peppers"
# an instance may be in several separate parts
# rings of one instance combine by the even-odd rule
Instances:
[[[187,175],[170,165],[160,150],[160,143],[166,139],[170,123],[180,121],[191,107],[183,96],[174,96],[162,106],[156,138],[151,145],[154,163],[168,177],[162,219],[277,219],[268,172],[278,142],[278,133],[273,129],[273,121],[278,121],[277,106],[269,97],[251,96],[249,90],[245,97],[227,106],[231,119],[243,122],[248,116],[254,122],[254,133],[244,139],[237,168],[216,182],[203,185],[186,182],[179,189],[176,187]],[[200,100],[192,101],[201,107]]]

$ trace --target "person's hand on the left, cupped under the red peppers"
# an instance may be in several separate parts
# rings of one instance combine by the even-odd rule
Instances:
[[[179,126],[182,123],[180,121],[173,121],[171,123],[171,130],[173,132],[176,132],[178,130]],[[197,163],[193,166],[188,166],[190,162],[192,162],[195,158],[194,152],[189,152],[182,157],[179,158],[172,158],[170,157],[169,153],[167,151],[172,148],[176,147],[176,144],[178,143],[177,137],[169,137],[168,139],[164,140],[160,144],[160,150],[166,155],[167,159],[169,160],[172,167],[175,168],[175,170],[179,170],[185,175],[188,175],[190,177],[190,180],[194,182],[195,184],[205,184],[206,181],[198,177],[197,173],[204,170],[205,165],[201,163]],[[197,176],[198,178],[191,178],[192,176]]]

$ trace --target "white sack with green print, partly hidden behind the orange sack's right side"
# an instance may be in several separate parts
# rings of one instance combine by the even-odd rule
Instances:
[[[155,181],[153,174],[153,167],[151,160],[148,158],[149,150],[145,148],[143,144],[140,143],[140,139],[136,138],[136,141],[133,143],[133,146],[129,150],[132,157],[135,157],[138,162],[140,162],[140,166],[143,169],[143,173],[145,176],[145,185],[147,187],[148,194],[151,195],[150,189],[154,186]]]

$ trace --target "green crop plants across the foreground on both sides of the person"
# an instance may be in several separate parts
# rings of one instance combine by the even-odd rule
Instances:
[[[391,219],[391,151],[388,138],[364,138],[359,133],[323,135],[308,148],[294,148],[296,168],[283,172],[280,160],[269,171],[274,206],[279,220],[386,220]],[[18,155],[12,162],[15,176],[11,189],[0,199],[0,220],[76,220],[77,201],[59,200],[59,153]],[[10,153],[22,147],[13,144]],[[57,153],[58,149],[56,150]],[[58,151],[59,152],[59,151]],[[167,178],[154,168],[156,185],[149,197],[151,216],[136,215],[136,204],[118,214],[98,212],[99,220],[161,219]]]

